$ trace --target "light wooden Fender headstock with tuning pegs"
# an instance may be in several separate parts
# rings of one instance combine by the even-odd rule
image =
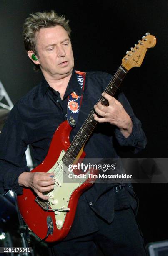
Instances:
[[[135,44],[135,47],[131,48],[130,51],[127,51],[122,59],[122,65],[125,69],[129,70],[132,67],[140,67],[145,57],[146,51],[148,48],[154,47],[156,44],[155,36],[146,33],[146,36],[142,37],[142,40],[138,41],[138,44]]]

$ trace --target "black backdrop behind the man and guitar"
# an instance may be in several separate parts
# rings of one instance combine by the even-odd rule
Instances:
[[[157,44],[140,68],[133,68],[123,91],[143,123],[148,145],[136,157],[167,157],[167,0],[0,1],[0,80],[15,103],[40,81],[22,40],[29,13],[56,10],[70,20],[75,68],[115,74],[126,51],[145,35]],[[131,153],[125,157],[134,157]],[[134,184],[140,199],[138,221],[145,243],[168,239],[168,185]]]

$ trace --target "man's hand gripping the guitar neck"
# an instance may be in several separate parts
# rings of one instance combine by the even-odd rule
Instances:
[[[114,97],[105,92],[102,93],[102,96],[108,100],[109,105],[104,106],[101,102],[94,105],[95,112],[101,116],[98,117],[96,114],[93,114],[95,121],[99,123],[107,122],[116,125],[125,138],[127,138],[133,129],[133,123],[130,116],[123,108],[123,105],[121,105],[121,103]]]

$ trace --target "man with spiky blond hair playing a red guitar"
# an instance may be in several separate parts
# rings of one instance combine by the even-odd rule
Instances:
[[[31,173],[26,167],[25,150],[33,147],[37,164],[43,161],[58,125],[67,119],[67,98],[83,95],[78,122],[70,134],[74,138],[94,106],[97,127],[85,145],[88,158],[117,158],[115,145],[128,146],[134,152],[145,147],[140,121],[135,117],[123,93],[118,100],[101,93],[111,75],[87,72],[84,91],[74,69],[68,20],[49,13],[31,14],[25,21],[25,49],[36,69],[43,73],[42,82],[17,102],[0,137],[1,193],[9,189],[21,194],[30,187],[42,199],[53,189],[54,173]],[[104,255],[143,256],[143,237],[135,220],[137,202],[131,185],[94,184],[83,193],[73,226],[64,241],[50,244],[53,255],[96,255],[99,246]]]

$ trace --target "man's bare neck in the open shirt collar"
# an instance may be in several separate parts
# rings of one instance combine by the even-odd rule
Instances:
[[[49,77],[48,75],[44,75],[45,80],[48,82],[50,87],[60,93],[60,97],[62,100],[71,76],[72,72],[70,72],[70,74],[60,75],[58,77]]]

